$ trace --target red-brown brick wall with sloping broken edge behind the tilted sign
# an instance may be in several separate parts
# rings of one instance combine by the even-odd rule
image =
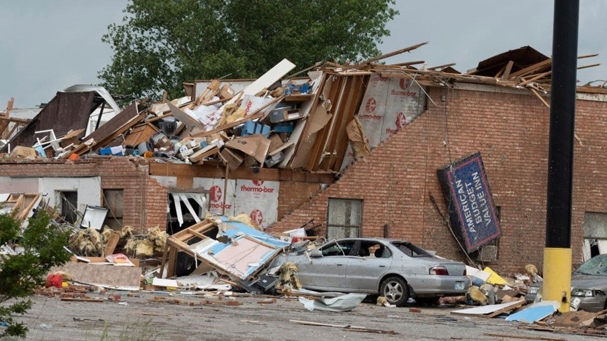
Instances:
[[[498,261],[505,272],[527,263],[542,266],[546,215],[549,110],[535,96],[431,88],[428,110],[363,160],[339,181],[284,217],[271,231],[326,221],[328,198],[364,200],[361,235],[381,237],[390,225],[404,238],[443,257],[461,260],[453,237],[429,200],[446,205],[436,169],[480,150],[503,237]],[[446,101],[441,101],[441,96]],[[577,101],[572,249],[582,262],[584,212],[607,212],[607,103]],[[444,140],[448,140],[446,147]]]

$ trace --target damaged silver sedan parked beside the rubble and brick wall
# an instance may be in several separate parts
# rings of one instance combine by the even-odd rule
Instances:
[[[435,257],[403,240],[346,238],[276,261],[297,265],[306,289],[379,294],[398,306],[409,297],[462,295],[470,287],[463,263]]]

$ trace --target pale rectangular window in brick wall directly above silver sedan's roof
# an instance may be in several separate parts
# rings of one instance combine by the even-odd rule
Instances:
[[[327,239],[359,237],[362,200],[330,198],[327,207]]]

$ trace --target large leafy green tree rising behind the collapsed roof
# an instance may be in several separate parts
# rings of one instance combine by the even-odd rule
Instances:
[[[398,14],[393,0],[132,0],[102,41],[114,50],[99,72],[112,93],[158,98],[194,79],[262,75],[282,58],[318,61],[378,55]]]

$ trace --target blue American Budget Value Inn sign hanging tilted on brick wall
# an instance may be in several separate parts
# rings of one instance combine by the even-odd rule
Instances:
[[[470,253],[501,237],[481,154],[470,155],[436,172],[449,206],[451,226],[466,251]]]

